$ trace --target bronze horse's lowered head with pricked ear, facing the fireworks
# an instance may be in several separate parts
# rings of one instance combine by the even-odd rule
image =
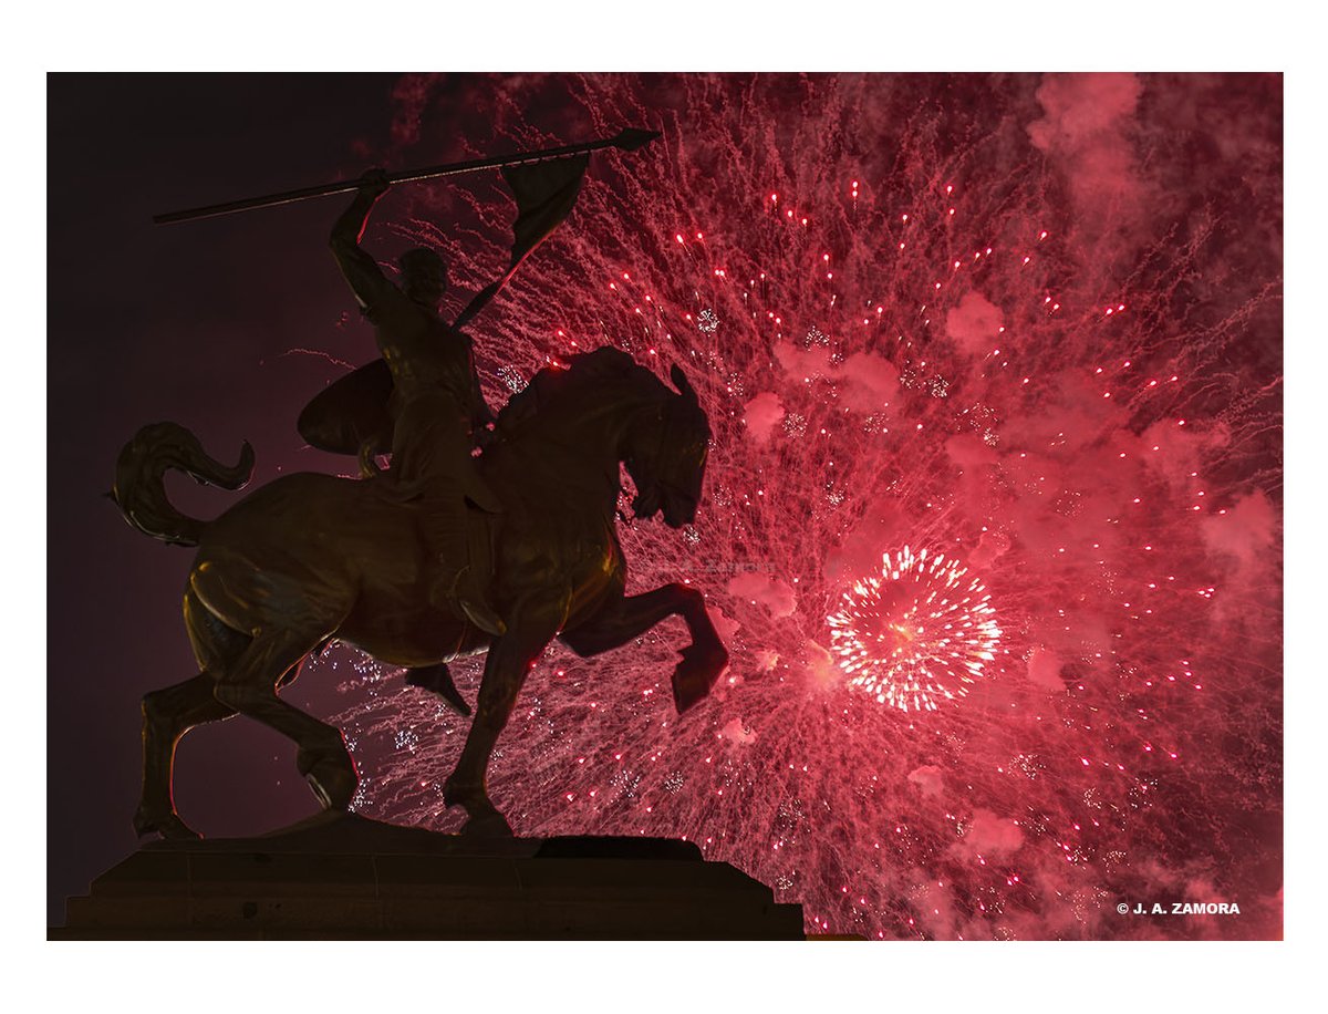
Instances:
[[[643,427],[624,464],[636,484],[632,510],[639,518],[663,512],[664,524],[681,528],[696,520],[710,447],[710,423],[683,371],[669,371],[679,393],[667,391],[659,415]]]

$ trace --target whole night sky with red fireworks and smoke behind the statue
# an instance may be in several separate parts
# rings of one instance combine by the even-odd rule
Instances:
[[[495,405],[608,343],[691,371],[709,502],[689,532],[624,534],[629,590],[699,583],[734,663],[676,720],[672,627],[550,655],[493,771],[518,833],[685,835],[823,933],[1278,936],[1272,74],[53,76],[49,921],[134,848],[139,698],[195,671],[190,553],[102,497],[120,448],[174,420],[222,460],[250,440],[255,484],[348,472],[295,419],[374,351],[327,253],[343,198],[151,215],[624,125],[665,138],[598,158],[471,331]],[[491,179],[424,185],[367,242],[436,243],[473,290],[507,217]],[[195,516],[232,500],[170,490]],[[912,633],[939,571],[888,562],[919,549],[991,595],[991,618],[942,615],[985,623],[973,654]],[[854,679],[882,631],[906,662]],[[927,667],[935,699],[908,688]],[[398,690],[343,651],[287,699],[355,742],[361,812],[454,829],[437,785],[463,726]],[[175,797],[210,836],[316,811],[293,747],[246,719],[185,740]],[[1243,892],[1248,917],[1122,922],[1143,889]]]

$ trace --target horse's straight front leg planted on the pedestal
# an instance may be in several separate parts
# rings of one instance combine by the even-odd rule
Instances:
[[[507,633],[489,647],[475,718],[442,795],[449,807],[459,804],[470,815],[463,828],[467,835],[511,835],[511,825],[489,799],[489,758],[526,676],[567,619],[567,603],[566,594],[544,594],[519,602],[509,617]]]

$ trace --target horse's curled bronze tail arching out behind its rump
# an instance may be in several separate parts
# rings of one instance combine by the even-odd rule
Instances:
[[[240,460],[227,468],[212,460],[198,437],[177,423],[154,423],[125,444],[116,462],[116,486],[110,498],[125,521],[145,536],[179,546],[197,546],[207,522],[186,517],[166,498],[167,469],[187,473],[194,481],[222,489],[239,489],[254,473],[254,448],[240,448]]]

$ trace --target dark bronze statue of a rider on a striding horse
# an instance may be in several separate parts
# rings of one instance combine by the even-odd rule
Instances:
[[[583,169],[584,162],[575,186]],[[680,712],[700,702],[728,664],[699,590],[671,583],[624,594],[615,529],[619,465],[636,488],[637,518],[661,514],[680,528],[700,505],[710,429],[683,371],[672,368],[671,388],[625,352],[600,348],[537,373],[490,423],[462,322],[445,324],[437,312],[446,287],[441,258],[429,250],[404,255],[398,287],[359,246],[369,210],[390,182],[367,174],[332,230],[333,255],[382,355],[373,371],[351,375],[340,396],[376,388],[377,400],[337,417],[327,409],[344,408],[344,397],[316,399],[300,419],[311,443],[359,452],[361,462],[373,457],[365,448],[385,439],[390,468],[365,468],[359,480],[286,476],[214,521],[198,521],[171,506],[165,473],[239,489],[254,468],[248,444],[231,468],[186,428],[158,423],[121,452],[112,496],[129,524],[197,546],[185,626],[199,672],[143,698],[139,835],[197,837],[174,807],[175,747],[190,728],[234,715],[296,743],[296,767],[323,807],[351,805],[359,777],[341,732],[279,695],[331,641],[406,667],[409,683],[437,691],[461,714],[470,710],[446,663],[487,651],[470,731],[444,789],[445,803],[467,813],[463,831],[481,836],[513,833],[489,799],[486,769],[551,641],[591,657],[680,615],[691,637],[672,675]],[[525,215],[534,194],[529,179],[509,182],[519,202],[527,198]],[[568,198],[563,181],[556,215],[570,210],[575,186]],[[543,235],[550,221],[546,214],[538,226]],[[543,235],[534,242],[527,235],[525,251],[514,249],[513,270]]]

